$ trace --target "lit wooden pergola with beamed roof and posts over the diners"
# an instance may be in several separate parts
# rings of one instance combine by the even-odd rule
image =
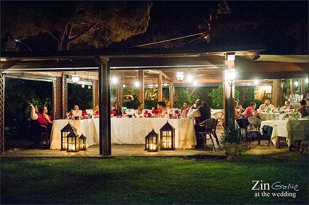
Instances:
[[[70,76],[77,72],[85,76],[85,84],[93,85],[93,103],[99,105],[100,149],[102,155],[111,154],[110,128],[110,87],[111,77],[121,82],[118,96],[122,96],[123,85],[140,83],[139,99],[144,98],[146,85],[158,84],[158,101],[162,100],[162,86],[168,84],[170,93],[175,86],[190,86],[187,79],[179,81],[178,71],[191,74],[200,85],[223,84],[225,119],[234,115],[234,88],[236,85],[248,85],[254,79],[308,78],[308,55],[282,62],[270,59],[260,60],[260,51],[222,51],[188,52],[180,50],[145,50],[130,51],[74,51],[55,53],[1,53],[0,73],[0,143],[4,148],[4,83],[5,77],[25,79],[44,79],[53,82],[53,119],[62,119],[67,107],[67,83]],[[277,56],[278,57],[278,56]],[[278,59],[277,59],[278,60]],[[297,61],[297,62],[296,62]],[[228,80],[228,71],[235,68],[235,84]],[[89,75],[91,73],[92,75]],[[277,81],[276,81],[277,80]],[[269,82],[268,82],[269,83]],[[163,85],[162,85],[163,84]],[[273,86],[280,89],[279,86]],[[171,107],[173,107],[173,95]],[[119,98],[119,99],[122,99]],[[274,102],[274,99],[273,99]]]

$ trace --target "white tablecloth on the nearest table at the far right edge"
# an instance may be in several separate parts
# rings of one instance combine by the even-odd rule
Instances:
[[[290,121],[290,122],[289,122]],[[276,145],[276,137],[286,137],[286,143],[290,147],[292,145],[292,140],[290,136],[290,130],[293,127],[297,128],[298,131],[305,131],[308,132],[308,119],[299,119],[299,120],[269,120],[269,121],[262,121],[261,128],[264,125],[273,127],[273,132],[271,136],[271,140]],[[294,137],[293,140],[301,140],[306,139],[306,134],[303,132],[303,136],[298,136],[297,139]],[[308,135],[307,135],[308,136]]]

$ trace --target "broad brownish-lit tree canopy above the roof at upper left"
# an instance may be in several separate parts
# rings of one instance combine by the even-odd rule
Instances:
[[[104,48],[144,33],[151,7],[151,1],[3,1],[1,38],[48,33],[59,51]]]

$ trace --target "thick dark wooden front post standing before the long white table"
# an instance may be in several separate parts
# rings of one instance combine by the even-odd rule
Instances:
[[[111,151],[111,115],[110,115],[110,68],[107,59],[96,59],[99,63],[99,130],[100,130],[100,154],[107,156]]]

